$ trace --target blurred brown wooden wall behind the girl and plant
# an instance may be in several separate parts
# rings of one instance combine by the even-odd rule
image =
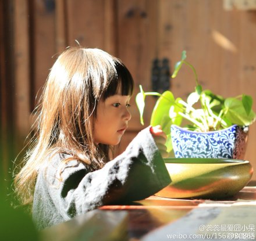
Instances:
[[[143,127],[134,102],[138,85],[145,91],[170,89],[183,99],[194,90],[193,72],[186,66],[170,79],[183,50],[204,89],[224,97],[246,93],[256,109],[254,0],[0,0],[0,175],[7,184],[49,69],[76,40],[119,57],[133,75],[133,118],[117,154],[150,123],[156,99],[147,98]],[[152,85],[157,65],[160,87]],[[255,143],[254,123],[245,157],[254,170]]]

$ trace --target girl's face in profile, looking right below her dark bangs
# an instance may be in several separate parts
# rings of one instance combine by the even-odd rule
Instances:
[[[131,118],[129,95],[120,91],[113,96],[99,100],[97,117],[94,124],[94,142],[106,145],[118,145]]]

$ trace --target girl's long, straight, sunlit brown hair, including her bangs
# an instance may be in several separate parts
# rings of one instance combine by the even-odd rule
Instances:
[[[38,170],[51,153],[67,153],[92,170],[109,160],[108,145],[95,145],[94,120],[100,98],[131,95],[133,79],[116,57],[100,49],[70,47],[49,73],[37,107],[35,135],[15,177],[15,190],[23,204],[33,202]]]

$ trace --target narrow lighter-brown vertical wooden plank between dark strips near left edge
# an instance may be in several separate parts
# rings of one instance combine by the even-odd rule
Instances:
[[[30,129],[29,6],[26,0],[14,0],[15,123],[17,138]]]

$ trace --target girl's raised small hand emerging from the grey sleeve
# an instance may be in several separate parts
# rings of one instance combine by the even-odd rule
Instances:
[[[155,140],[155,143],[159,149],[159,152],[161,153],[161,156],[163,158],[168,157],[168,152],[166,151],[167,148],[165,146],[167,136],[166,136],[165,132],[163,132],[161,130],[161,126],[156,125],[155,127],[151,127],[150,132]]]

